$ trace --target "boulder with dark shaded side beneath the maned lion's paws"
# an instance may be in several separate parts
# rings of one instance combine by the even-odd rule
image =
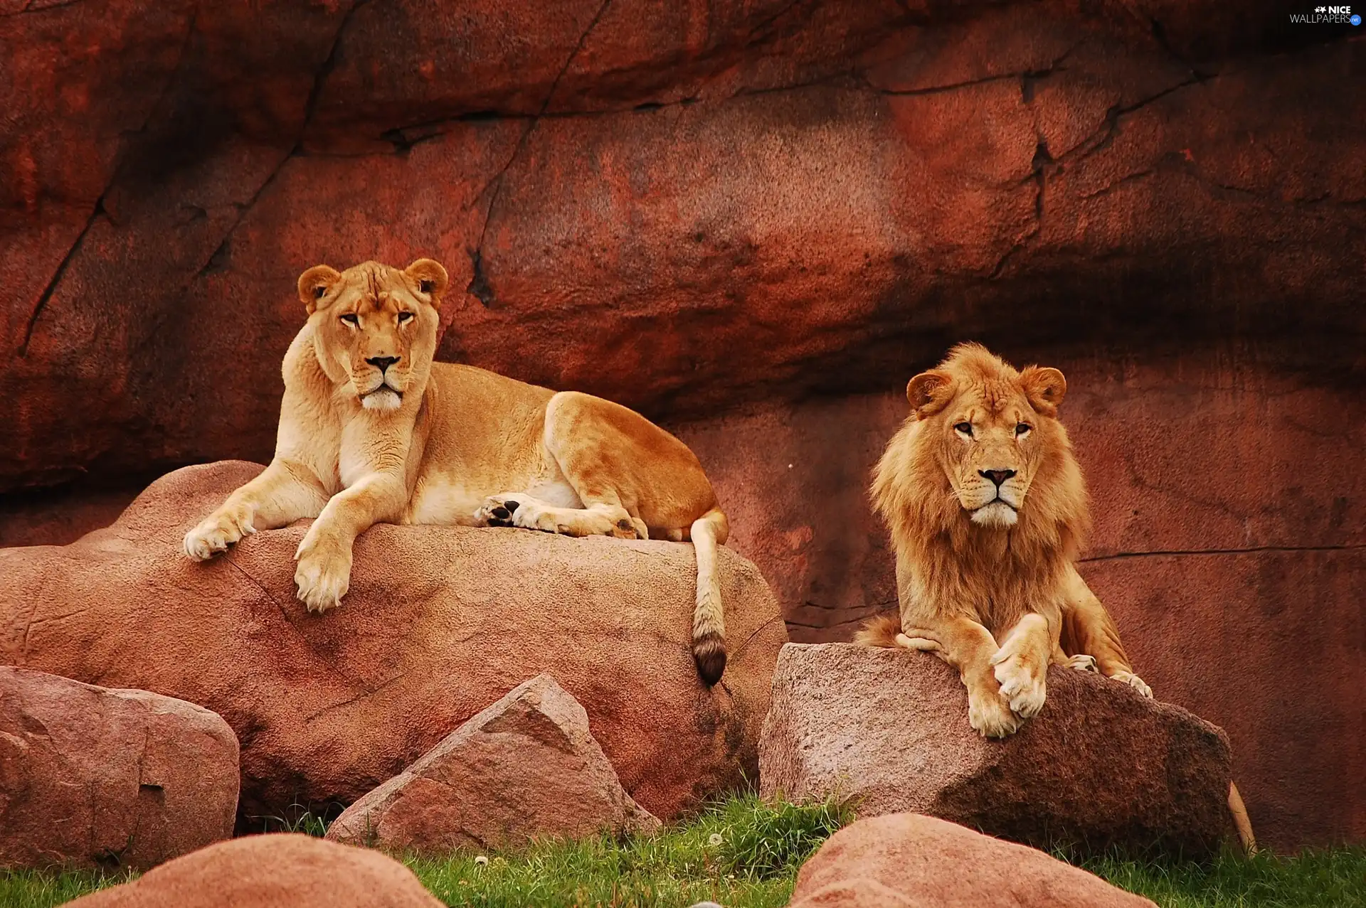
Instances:
[[[967,724],[926,653],[790,643],[759,741],[766,795],[840,796],[1035,845],[1208,855],[1229,832],[1224,732],[1098,675],[1052,666],[1044,711],[1004,740]]]

